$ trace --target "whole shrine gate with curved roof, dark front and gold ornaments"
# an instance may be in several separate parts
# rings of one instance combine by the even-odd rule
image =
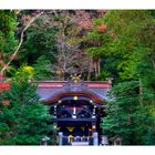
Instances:
[[[72,78],[69,81],[40,81],[37,93],[50,106],[58,145],[99,145],[101,117],[111,89],[108,81]]]

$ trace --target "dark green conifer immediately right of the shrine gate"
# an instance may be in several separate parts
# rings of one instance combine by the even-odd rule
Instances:
[[[103,134],[123,137],[124,145],[155,144],[155,117],[151,113],[154,106],[148,104],[149,92],[144,92],[142,96],[138,81],[120,83],[112,89],[110,97],[113,97],[113,102],[106,105],[107,116],[101,124]]]

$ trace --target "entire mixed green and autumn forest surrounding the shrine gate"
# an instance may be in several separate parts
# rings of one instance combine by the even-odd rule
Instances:
[[[0,10],[0,145],[39,145],[52,116],[30,83],[74,73],[113,79],[103,134],[155,145],[154,10]]]

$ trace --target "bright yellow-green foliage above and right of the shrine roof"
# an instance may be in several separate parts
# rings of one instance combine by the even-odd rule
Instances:
[[[100,42],[97,45],[89,46],[87,51],[93,56],[99,54],[102,56],[103,72],[105,70],[112,72],[116,82],[131,80],[137,63],[137,56],[134,56],[134,53],[140,46],[145,46],[142,44],[141,33],[147,34],[145,29],[151,27],[152,21],[152,17],[145,10],[107,11],[103,18],[94,20],[95,27],[87,33],[87,40]],[[105,32],[97,32],[96,25],[102,23],[106,24],[107,29]],[[148,40],[152,40],[153,43],[152,38],[154,38],[153,34]],[[138,51],[141,52],[141,50],[143,49],[141,48]]]

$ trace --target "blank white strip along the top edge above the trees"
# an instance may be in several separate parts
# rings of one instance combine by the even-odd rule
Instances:
[[[0,0],[0,9],[155,9],[155,0]]]

